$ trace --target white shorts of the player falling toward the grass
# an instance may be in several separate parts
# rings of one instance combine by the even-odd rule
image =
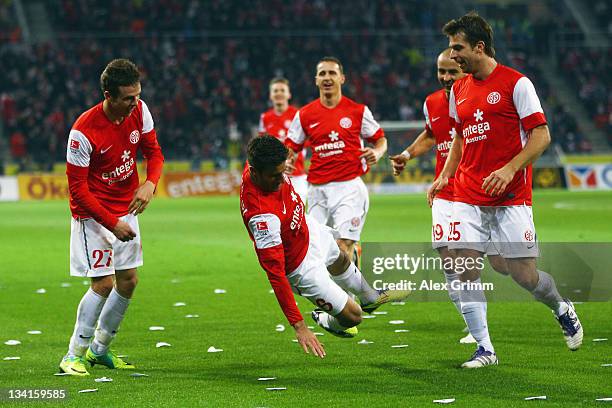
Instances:
[[[308,216],[306,223],[310,232],[308,252],[300,266],[287,275],[287,279],[293,293],[336,316],[348,301],[348,294],[332,280],[327,270],[340,256],[340,248],[336,244],[337,231]]]

